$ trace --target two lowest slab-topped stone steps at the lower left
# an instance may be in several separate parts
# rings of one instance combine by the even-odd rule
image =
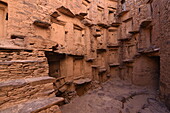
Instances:
[[[33,77],[0,83],[0,113],[60,113],[57,106],[64,99],[56,97],[53,77]]]

